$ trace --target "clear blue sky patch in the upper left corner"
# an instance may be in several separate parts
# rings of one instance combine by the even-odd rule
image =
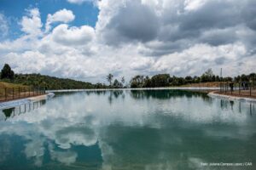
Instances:
[[[99,9],[93,3],[68,3],[66,0],[0,0],[0,12],[5,14],[9,20],[9,38],[19,37],[19,20],[26,14],[26,9],[39,8],[41,20],[46,22],[48,14],[67,8],[76,16],[72,21],[73,26],[95,26]]]

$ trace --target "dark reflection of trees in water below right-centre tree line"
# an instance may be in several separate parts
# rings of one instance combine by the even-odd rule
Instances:
[[[131,90],[131,97],[133,99],[176,99],[181,97],[200,97],[207,101],[212,100],[206,93],[185,90]]]

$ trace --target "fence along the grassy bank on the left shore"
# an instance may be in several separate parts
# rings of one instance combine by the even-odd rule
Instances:
[[[0,88],[0,101],[22,99],[45,94],[45,88]]]

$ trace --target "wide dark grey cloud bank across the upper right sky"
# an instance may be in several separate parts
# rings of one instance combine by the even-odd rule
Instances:
[[[245,14],[241,16],[241,11],[246,11],[248,5],[253,4],[207,0],[147,3],[127,0],[113,7],[110,0],[99,5],[101,11],[97,31],[109,44],[132,40],[162,42],[163,45],[159,46],[161,53],[156,52],[159,49],[152,50],[157,56],[189,48],[195,43],[223,45],[236,42],[236,31],[246,29],[243,26]],[[247,17],[247,20],[253,23],[253,19]]]

